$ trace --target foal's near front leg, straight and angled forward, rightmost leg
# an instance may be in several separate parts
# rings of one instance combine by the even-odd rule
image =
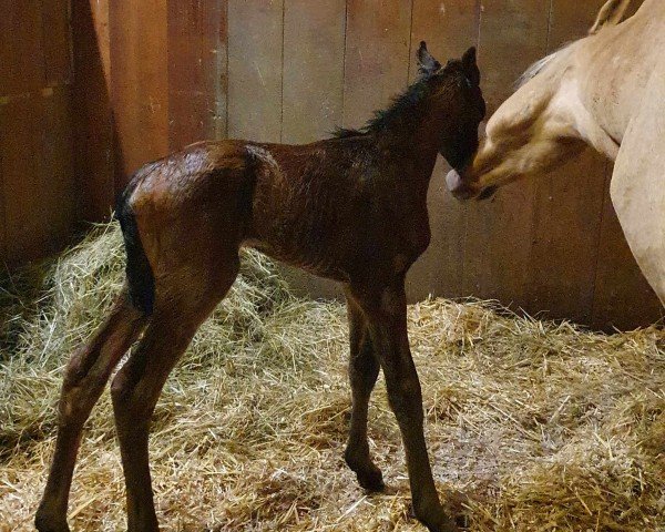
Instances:
[[[413,511],[432,532],[451,532],[437,494],[422,431],[422,395],[407,334],[407,303],[403,277],[385,287],[351,286],[351,296],[362,309],[380,361],[388,400],[402,436],[409,470]]]

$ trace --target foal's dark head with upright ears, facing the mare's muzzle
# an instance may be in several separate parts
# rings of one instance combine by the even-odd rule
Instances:
[[[423,41],[418,49],[418,64],[421,82],[431,94],[431,116],[444,119],[437,129],[439,153],[453,168],[464,168],[478,151],[478,126],[485,114],[475,48],[470,48],[461,60],[441,66]]]

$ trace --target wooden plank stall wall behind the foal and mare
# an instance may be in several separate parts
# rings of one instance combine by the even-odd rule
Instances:
[[[64,110],[65,126],[58,122],[65,129],[61,145],[74,147],[73,160],[61,149],[60,180],[70,188],[60,182],[51,188],[42,183],[45,174],[34,170],[43,165],[25,167],[17,155],[25,147],[16,132],[31,136],[39,123],[32,129],[20,117],[0,123],[3,256],[31,258],[58,243],[43,232],[50,213],[32,221],[43,236],[28,238],[30,253],[20,244],[25,238],[14,239],[17,219],[25,223],[34,212],[21,202],[43,200],[35,200],[35,186],[69,205],[71,225],[73,216],[99,219],[132,171],[191,142],[227,136],[308,142],[336,125],[360,125],[413,80],[412,54],[423,39],[443,59],[478,47],[491,112],[531,62],[583,35],[602,3],[72,0],[73,68],[61,74],[64,95],[58,108]],[[32,35],[34,24],[20,22]],[[0,53],[7,54],[4,45]],[[24,61],[23,54],[9,53],[11,64]],[[17,71],[2,94],[13,102],[14,93],[51,86],[40,75],[22,86],[28,78]],[[20,114],[6,100],[0,112]],[[607,196],[612,168],[602,157],[587,152],[551,175],[505,187],[490,203],[456,202],[444,192],[446,171],[440,161],[429,197],[433,238],[409,276],[412,300],[428,294],[495,298],[598,328],[659,317],[659,304],[621,234]],[[23,191],[30,186],[32,193]],[[296,280],[314,295],[335,294],[325,282],[303,275]]]

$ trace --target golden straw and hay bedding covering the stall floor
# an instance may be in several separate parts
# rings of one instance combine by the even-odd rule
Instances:
[[[122,278],[114,226],[2,282],[0,530],[31,530],[54,442],[61,371]],[[471,531],[665,530],[665,339],[507,315],[483,303],[409,310],[441,495]],[[244,255],[155,412],[151,452],[165,531],[409,531],[399,432],[379,382],[371,450],[388,491],[366,494],[341,456],[349,417],[338,303],[295,297]],[[124,483],[109,393],[93,411],[73,530],[122,530]]]

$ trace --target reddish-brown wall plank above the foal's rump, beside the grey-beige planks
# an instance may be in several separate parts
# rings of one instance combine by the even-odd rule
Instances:
[[[171,150],[226,133],[226,1],[168,2]],[[225,94],[225,91],[222,92]]]

